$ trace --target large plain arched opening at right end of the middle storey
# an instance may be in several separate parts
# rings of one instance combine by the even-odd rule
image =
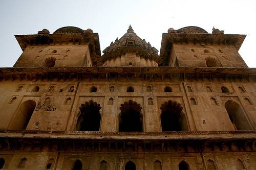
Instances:
[[[251,129],[242,107],[237,102],[229,100],[225,103],[225,108],[235,130]]]

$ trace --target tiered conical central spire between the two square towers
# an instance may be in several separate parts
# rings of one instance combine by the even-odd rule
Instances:
[[[103,53],[103,66],[158,66],[158,50],[137,36],[131,25]]]

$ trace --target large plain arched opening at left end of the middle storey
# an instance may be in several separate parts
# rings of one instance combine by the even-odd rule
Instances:
[[[10,130],[26,130],[29,120],[36,107],[35,101],[28,100],[19,106]]]

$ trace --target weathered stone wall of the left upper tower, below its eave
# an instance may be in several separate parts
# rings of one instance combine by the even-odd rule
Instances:
[[[28,46],[13,67],[47,67],[47,59],[55,60],[55,67],[92,66],[88,45]]]

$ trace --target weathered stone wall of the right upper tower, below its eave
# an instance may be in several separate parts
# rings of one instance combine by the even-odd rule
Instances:
[[[193,66],[207,67],[206,58],[217,60],[215,66],[211,67],[247,67],[234,46],[231,45],[194,45],[173,44],[170,54],[169,66]]]

